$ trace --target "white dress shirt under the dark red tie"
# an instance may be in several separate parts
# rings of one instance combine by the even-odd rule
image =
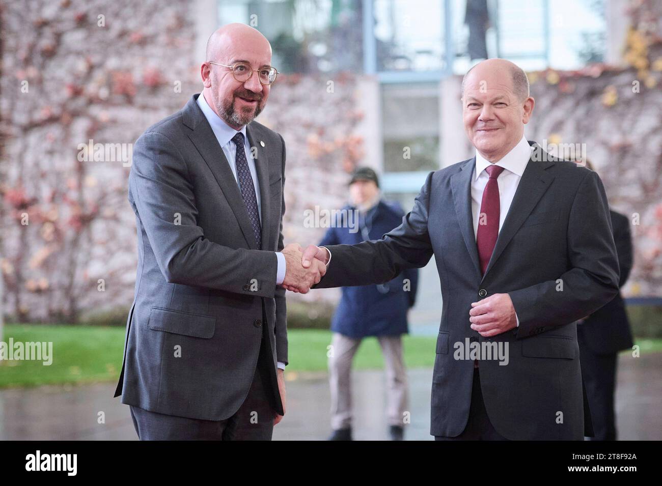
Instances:
[[[503,222],[508,216],[508,210],[512,203],[512,198],[515,196],[517,186],[520,184],[524,169],[529,163],[533,147],[529,145],[526,138],[522,136],[522,140],[517,143],[510,152],[506,153],[504,157],[496,162],[494,165],[503,167],[504,170],[499,174],[496,179],[498,184],[498,198],[499,198],[499,218],[498,230],[501,231]],[[471,212],[473,214],[473,237],[474,240],[478,235],[478,222],[481,215],[481,202],[483,202],[483,191],[489,180],[489,175],[485,170],[489,167],[491,162],[485,160],[485,157],[476,150],[476,167],[471,177]],[[517,325],[520,325],[520,319],[515,314]]]

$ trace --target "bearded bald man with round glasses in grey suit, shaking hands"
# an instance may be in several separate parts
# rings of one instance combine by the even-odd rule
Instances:
[[[285,290],[326,271],[283,245],[283,138],[254,122],[277,71],[258,30],[214,32],[203,92],[134,147],[138,272],[115,396],[140,439],[271,439],[285,414]]]

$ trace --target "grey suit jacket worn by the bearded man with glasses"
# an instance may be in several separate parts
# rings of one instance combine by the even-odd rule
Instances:
[[[149,411],[218,421],[248,394],[263,331],[272,385],[276,362],[287,364],[285,290],[275,284],[274,253],[283,249],[285,143],[257,122],[247,127],[257,150],[258,248],[197,97],[134,146],[128,200],[136,213],[138,271],[115,396]],[[273,391],[282,414],[277,386]]]

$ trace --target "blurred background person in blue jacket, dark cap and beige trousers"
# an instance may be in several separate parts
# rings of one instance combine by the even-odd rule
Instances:
[[[319,246],[354,245],[381,237],[402,223],[404,212],[397,203],[381,200],[377,174],[368,167],[356,169],[350,181],[352,219],[330,227]],[[339,218],[340,219],[340,218]],[[331,427],[329,440],[352,440],[352,391],[350,372],[356,350],[364,337],[375,336],[384,355],[387,374],[387,419],[392,440],[402,440],[403,414],[407,406],[406,370],[402,360],[402,334],[408,333],[407,310],[414,305],[418,270],[404,270],[380,285],[343,287],[334,314],[329,357]]]

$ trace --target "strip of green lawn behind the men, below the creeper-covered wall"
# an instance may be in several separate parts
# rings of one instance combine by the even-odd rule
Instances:
[[[6,325],[3,341],[53,343],[53,363],[0,361],[0,387],[46,384],[115,382],[122,367],[124,327],[71,325]],[[322,329],[290,329],[289,372],[326,371],[331,332]],[[641,353],[662,352],[662,339],[636,339]],[[404,362],[408,368],[432,368],[436,336],[404,336]],[[630,351],[624,351],[628,353]],[[381,369],[384,360],[379,343],[366,338],[354,358],[354,369]]]

